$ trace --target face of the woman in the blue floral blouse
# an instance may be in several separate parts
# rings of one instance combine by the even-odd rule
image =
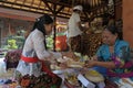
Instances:
[[[102,33],[102,42],[108,45],[114,45],[117,34],[112,34],[110,31],[105,30]]]

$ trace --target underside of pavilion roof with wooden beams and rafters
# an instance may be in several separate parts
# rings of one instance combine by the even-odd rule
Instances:
[[[0,7],[69,18],[72,7],[83,6],[82,18],[94,18],[108,10],[108,0],[0,0]]]

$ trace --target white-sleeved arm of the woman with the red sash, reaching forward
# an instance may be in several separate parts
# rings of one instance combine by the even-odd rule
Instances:
[[[34,38],[35,37],[35,38]],[[44,47],[44,36],[41,32],[37,32],[32,36],[33,47],[37,53],[37,56],[40,59],[49,59],[49,58],[60,58],[62,57],[61,53],[47,51]],[[63,55],[71,56],[71,53],[63,53]],[[50,61],[50,59],[49,59]]]

